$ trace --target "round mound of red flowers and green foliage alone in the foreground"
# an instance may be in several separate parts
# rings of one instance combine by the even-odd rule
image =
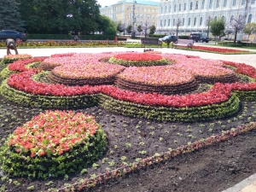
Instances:
[[[0,164],[15,176],[59,177],[82,170],[107,147],[91,115],[46,111],[17,127],[0,149]]]

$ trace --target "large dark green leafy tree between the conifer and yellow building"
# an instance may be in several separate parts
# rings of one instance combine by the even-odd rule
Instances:
[[[100,16],[96,0],[20,0],[27,32],[68,33],[97,30]]]

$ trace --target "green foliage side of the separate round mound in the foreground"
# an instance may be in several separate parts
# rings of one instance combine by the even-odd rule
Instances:
[[[15,148],[6,141],[0,148],[0,164],[4,172],[15,177],[47,178],[65,177],[68,174],[81,171],[93,164],[107,148],[107,135],[102,128],[96,134],[89,136],[86,143],[80,144],[61,155],[44,155],[30,157],[25,152],[17,153]],[[96,164],[93,164],[96,167]]]

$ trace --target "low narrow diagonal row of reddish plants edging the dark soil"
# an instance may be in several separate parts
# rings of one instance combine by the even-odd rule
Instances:
[[[214,143],[224,142],[232,137],[236,137],[237,135],[241,135],[243,133],[246,133],[247,131],[252,131],[255,129],[256,122],[244,126],[238,126],[236,128],[232,128],[229,131],[223,131],[221,134],[195,141],[195,143],[188,143],[187,145],[180,146],[179,148],[175,148],[170,151],[163,152],[161,154],[154,154],[151,157],[140,160],[139,162],[133,163],[129,166],[122,166],[111,172],[100,173],[96,177],[85,177],[83,181],[79,180],[78,182],[75,182],[69,186],[57,189],[57,191],[72,192],[75,190],[80,191],[84,188],[93,188],[97,184],[108,182],[110,179],[125,177],[125,175],[142,170],[145,167],[165,163],[166,161],[170,161],[173,158],[177,157],[178,155],[189,154],[195,150],[207,148]]]

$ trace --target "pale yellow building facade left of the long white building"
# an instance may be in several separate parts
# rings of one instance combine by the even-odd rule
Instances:
[[[158,6],[157,2],[143,0],[123,0],[100,9],[101,15],[108,16],[115,23],[121,22],[125,26],[157,27]]]

